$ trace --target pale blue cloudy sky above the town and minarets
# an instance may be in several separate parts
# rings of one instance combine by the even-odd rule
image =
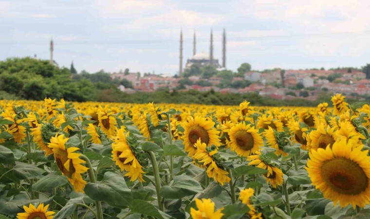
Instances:
[[[179,71],[197,52],[226,68],[243,62],[254,70],[361,67],[370,62],[369,0],[0,0],[0,60],[49,59],[50,39],[59,66],[78,72]]]

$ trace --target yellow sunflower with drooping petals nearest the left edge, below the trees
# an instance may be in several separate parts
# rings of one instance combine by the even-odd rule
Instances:
[[[23,119],[17,119],[17,114],[14,114],[12,111],[9,110],[3,111],[1,113],[1,116],[4,119],[13,122],[12,124],[6,125],[6,131],[13,136],[14,141],[16,141],[17,143],[21,143],[26,138],[26,128],[20,125],[20,123],[23,122]]]

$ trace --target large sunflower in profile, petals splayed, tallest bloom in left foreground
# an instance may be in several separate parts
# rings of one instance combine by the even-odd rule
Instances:
[[[86,181],[82,179],[81,174],[89,168],[81,165],[86,163],[79,158],[79,153],[74,151],[79,150],[78,147],[69,147],[66,149],[65,143],[68,138],[64,135],[56,135],[52,137],[48,146],[53,148],[54,159],[59,167],[59,170],[65,175],[68,181],[74,186],[76,192],[84,192]]]

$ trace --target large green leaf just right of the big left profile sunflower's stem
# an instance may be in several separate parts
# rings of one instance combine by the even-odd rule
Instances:
[[[112,172],[104,173],[98,183],[87,183],[85,193],[95,201],[106,201],[113,206],[130,206],[132,194],[124,178]]]

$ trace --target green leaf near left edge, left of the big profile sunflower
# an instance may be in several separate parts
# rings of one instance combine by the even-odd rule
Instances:
[[[13,168],[13,176],[19,180],[33,179],[41,176],[45,170],[38,168],[35,164],[24,164],[16,162]]]

